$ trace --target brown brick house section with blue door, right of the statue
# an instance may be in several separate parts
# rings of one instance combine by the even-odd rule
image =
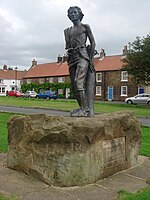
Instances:
[[[125,46],[122,55],[106,56],[102,49],[100,57],[95,59],[96,96],[98,100],[124,101],[129,96],[139,93],[150,93],[150,87],[136,85],[132,77],[122,70],[122,59],[127,51]],[[98,60],[97,60],[98,59]]]

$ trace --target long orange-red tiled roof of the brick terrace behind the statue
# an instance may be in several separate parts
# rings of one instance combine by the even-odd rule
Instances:
[[[120,70],[123,62],[122,55],[105,56],[103,59],[94,58],[94,66],[96,71],[112,71]],[[23,78],[38,78],[38,77],[57,77],[68,76],[69,70],[67,62],[65,63],[45,63],[31,67]]]

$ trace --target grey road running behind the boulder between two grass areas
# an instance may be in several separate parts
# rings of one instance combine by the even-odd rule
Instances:
[[[0,112],[11,112],[19,114],[47,114],[47,115],[63,115],[69,116],[69,112],[61,110],[53,110],[48,108],[26,108],[26,107],[17,107],[17,106],[0,106]],[[150,117],[139,117],[139,121],[143,126],[150,127]]]

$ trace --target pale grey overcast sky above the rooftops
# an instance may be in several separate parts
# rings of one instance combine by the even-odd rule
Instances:
[[[0,68],[29,69],[31,61],[56,61],[65,53],[70,6],[81,7],[98,52],[122,53],[136,36],[150,33],[150,0],[0,0]]]

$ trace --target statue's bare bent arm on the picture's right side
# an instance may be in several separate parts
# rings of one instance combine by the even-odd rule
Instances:
[[[94,52],[95,52],[95,39],[94,39],[90,26],[86,24],[85,28],[86,28],[87,36],[90,41],[89,57],[90,57],[90,60],[92,61],[94,57]]]

